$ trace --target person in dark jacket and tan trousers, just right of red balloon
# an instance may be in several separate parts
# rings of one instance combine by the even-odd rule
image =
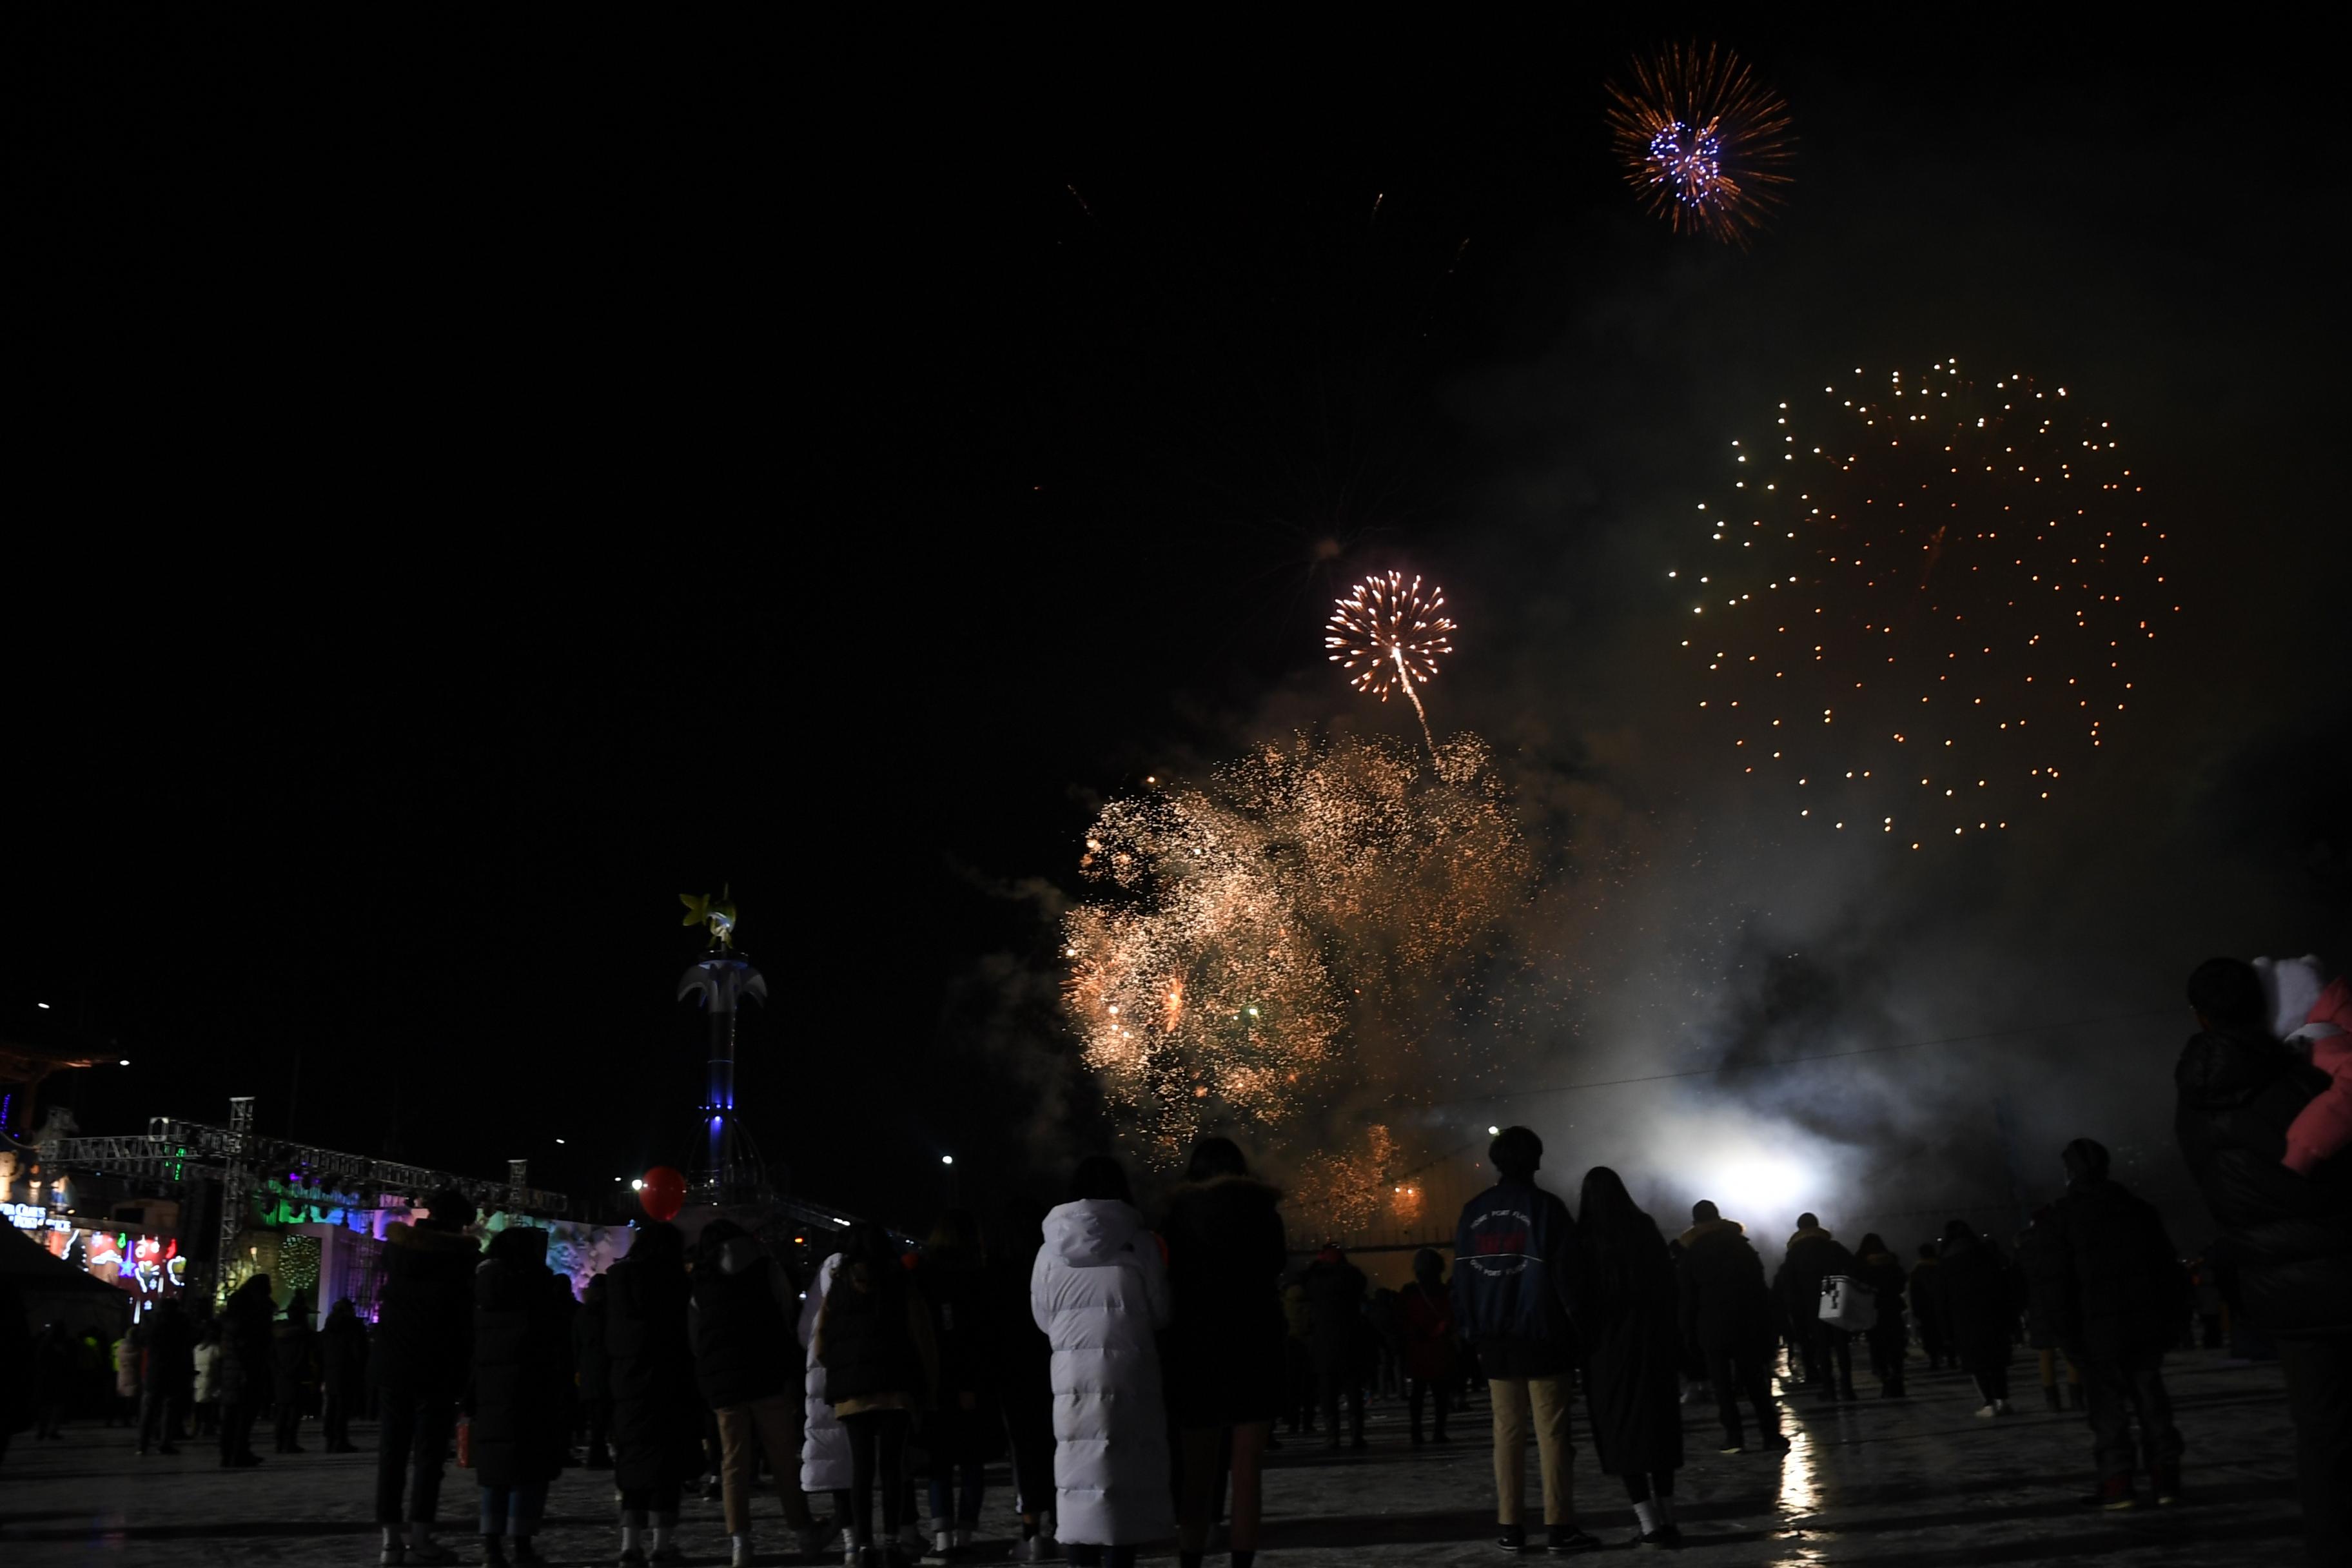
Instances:
[[[694,1378],[720,1425],[720,1497],[734,1568],[750,1568],[755,1455],[767,1455],[783,1519],[802,1552],[816,1549],[816,1521],[800,1490],[800,1356],[793,1342],[793,1286],[760,1239],[734,1220],[703,1225],[696,1239]]]

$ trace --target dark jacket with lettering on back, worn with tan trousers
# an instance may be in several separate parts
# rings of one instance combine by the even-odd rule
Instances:
[[[1496,1182],[1454,1227],[1454,1328],[1489,1378],[1557,1378],[1576,1366],[1569,1328],[1576,1220],[1534,1182]]]

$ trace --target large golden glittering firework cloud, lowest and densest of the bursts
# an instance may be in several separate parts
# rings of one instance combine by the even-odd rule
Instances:
[[[1369,1077],[1425,1081],[1442,997],[1536,882],[1475,738],[1435,766],[1378,738],[1265,745],[1103,806],[1080,870],[1101,896],[1065,919],[1063,1006],[1155,1164],[1209,1128],[1317,1138]]]

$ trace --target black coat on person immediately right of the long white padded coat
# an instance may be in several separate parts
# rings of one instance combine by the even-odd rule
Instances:
[[[1183,1185],[1169,1199],[1160,1234],[1169,1248],[1171,1312],[1160,1361],[1178,1427],[1272,1420],[1282,1403],[1289,1253],[1277,1204],[1279,1192],[1247,1175]],[[1362,1279],[1355,1272],[1359,1298]],[[1341,1281],[1338,1291],[1345,1288]]]

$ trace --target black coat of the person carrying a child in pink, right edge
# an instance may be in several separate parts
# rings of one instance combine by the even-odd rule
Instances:
[[[2274,1335],[2352,1333],[2352,1159],[2296,1175],[2286,1124],[2326,1074],[2263,1030],[2209,1030],[2173,1067],[2173,1133],[2223,1227],[2209,1258]]]

